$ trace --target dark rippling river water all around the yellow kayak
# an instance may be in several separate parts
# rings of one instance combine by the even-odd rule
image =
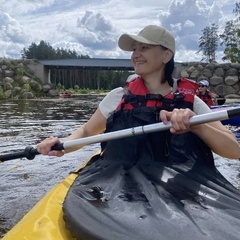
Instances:
[[[64,138],[85,123],[104,96],[0,102],[0,156],[36,146],[49,136]],[[240,142],[240,130],[230,127]],[[0,164],[0,238],[68,173],[99,150],[99,144],[61,158],[37,155]],[[240,189],[240,162],[217,155],[216,166]],[[1,159],[1,157],[0,157]]]

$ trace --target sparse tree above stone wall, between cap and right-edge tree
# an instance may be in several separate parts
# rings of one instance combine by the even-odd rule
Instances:
[[[216,50],[218,47],[218,26],[214,23],[202,30],[203,35],[199,38],[199,52],[202,52],[202,60],[208,62],[216,60]]]

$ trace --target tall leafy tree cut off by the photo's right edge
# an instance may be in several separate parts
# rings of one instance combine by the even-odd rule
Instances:
[[[222,60],[230,60],[232,63],[240,61],[240,3],[235,4],[233,10],[235,18],[227,21],[223,34],[221,46],[225,46]]]

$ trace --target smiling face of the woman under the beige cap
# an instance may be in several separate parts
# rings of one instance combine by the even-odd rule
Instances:
[[[164,50],[161,46],[135,42],[131,56],[135,73],[143,78],[149,74],[162,74],[165,63],[170,60],[167,58],[167,51],[169,50]]]

